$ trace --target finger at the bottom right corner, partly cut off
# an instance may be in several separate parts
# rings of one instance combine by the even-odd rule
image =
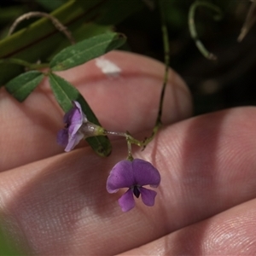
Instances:
[[[256,200],[119,255],[255,255]]]

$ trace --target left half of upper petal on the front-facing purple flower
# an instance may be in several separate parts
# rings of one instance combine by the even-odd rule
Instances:
[[[113,166],[107,180],[108,193],[115,193],[121,188],[130,188],[135,184],[131,163],[130,160],[122,160]]]

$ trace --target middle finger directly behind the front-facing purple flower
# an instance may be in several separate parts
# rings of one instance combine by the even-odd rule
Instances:
[[[117,203],[124,191],[108,195],[105,184],[126,157],[125,142],[114,142],[108,159],[83,148],[3,172],[5,224],[32,253],[113,255],[210,218],[256,196],[255,114],[235,108],[160,131],[134,154],[160,170],[155,206],[137,200],[125,214]]]

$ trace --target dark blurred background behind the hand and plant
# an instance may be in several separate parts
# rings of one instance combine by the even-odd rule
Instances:
[[[93,1],[93,0],[84,0]],[[118,0],[124,1],[124,0]],[[129,15],[114,26],[128,38],[123,49],[148,55],[164,61],[160,15],[157,4],[141,1],[143,9]],[[51,12],[67,0],[1,0],[0,38],[4,38],[9,26],[20,15],[29,11]],[[195,101],[195,114],[208,113],[223,108],[256,104],[256,26],[237,42],[241,26],[252,6],[249,0],[212,0],[223,11],[222,20],[214,20],[214,12],[199,7],[195,12],[195,26],[205,47],[218,56],[209,61],[196,48],[188,26],[189,7],[195,1],[165,0],[166,23],[169,31],[170,66],[189,85]],[[27,26],[26,20],[20,26]]]

